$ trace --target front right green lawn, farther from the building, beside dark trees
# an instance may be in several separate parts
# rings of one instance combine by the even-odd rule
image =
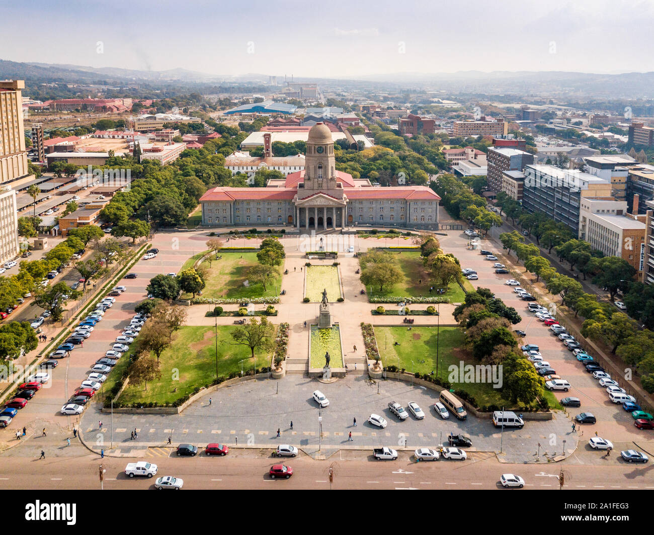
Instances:
[[[466,351],[462,351],[464,345],[463,333],[456,327],[441,327],[439,330],[440,341],[438,343],[439,368],[442,379],[450,381],[449,366],[458,368],[459,362],[476,366],[479,364]],[[375,327],[377,347],[383,360],[384,366],[398,366],[406,371],[415,373],[436,373],[436,327]],[[400,345],[394,345],[395,342]],[[493,388],[492,383],[453,383],[454,390],[465,390],[475,397],[479,406],[503,405],[511,406],[509,400],[502,398],[502,392]],[[547,392],[547,391],[546,391]],[[550,392],[547,392],[550,393]],[[550,406],[555,406],[554,396],[545,396]]]

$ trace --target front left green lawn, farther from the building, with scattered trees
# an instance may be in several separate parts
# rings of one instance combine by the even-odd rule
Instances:
[[[254,362],[250,348],[232,344],[232,331],[237,326],[218,326],[218,375],[228,376],[232,371],[252,370]],[[120,396],[121,403],[173,402],[194,388],[211,384],[216,378],[216,338],[213,326],[182,327],[174,335],[173,345],[161,356],[162,377],[154,383],[127,387]],[[256,368],[270,364],[268,353],[255,351]],[[123,356],[120,360],[126,359]],[[179,378],[173,371],[179,370]],[[118,375],[116,375],[117,377]],[[177,388],[176,392],[173,390]]]

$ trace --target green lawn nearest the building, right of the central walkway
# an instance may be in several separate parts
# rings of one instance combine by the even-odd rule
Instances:
[[[379,286],[367,286],[366,292],[371,297],[385,296],[407,296],[407,297],[436,297],[439,294],[429,293],[432,284],[429,281],[429,273],[422,266],[422,256],[419,251],[398,251],[395,253],[398,259],[398,268],[402,276],[393,286],[385,286],[380,292]],[[472,285],[466,280],[464,286],[472,290]],[[450,303],[461,303],[466,293],[456,283],[451,283],[443,297],[449,299]]]

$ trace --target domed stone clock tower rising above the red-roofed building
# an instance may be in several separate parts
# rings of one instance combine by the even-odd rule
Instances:
[[[324,123],[319,122],[309,130],[305,158],[304,189],[336,189],[334,140],[332,131]]]

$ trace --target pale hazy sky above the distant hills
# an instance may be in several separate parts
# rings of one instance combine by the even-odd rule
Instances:
[[[652,26],[651,0],[0,0],[0,59],[296,77],[645,72]]]

